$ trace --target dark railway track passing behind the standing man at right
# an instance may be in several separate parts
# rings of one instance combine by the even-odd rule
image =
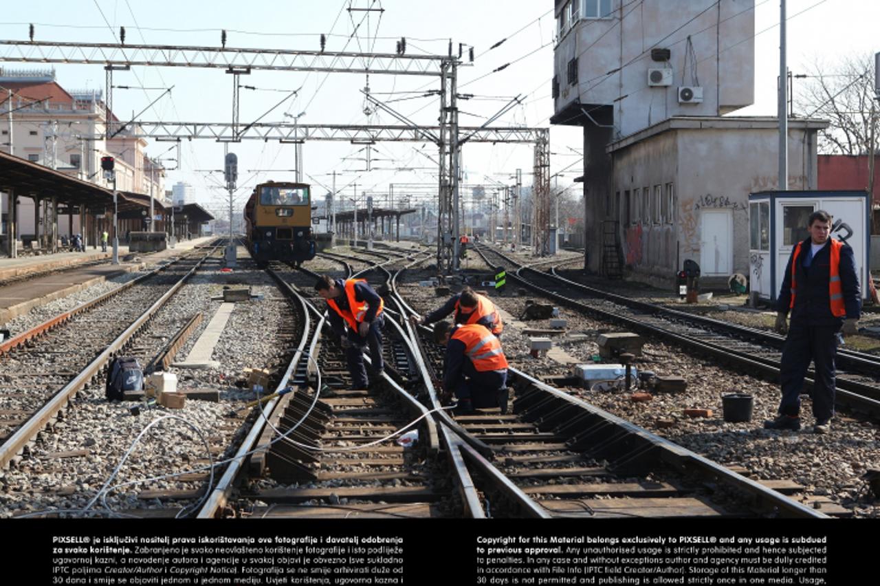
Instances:
[[[561,304],[626,326],[633,332],[645,333],[710,355],[716,363],[730,364],[771,379],[779,376],[779,336],[621,297],[563,279],[559,275],[518,265],[485,246],[478,250],[490,264],[517,267],[516,273],[508,273],[511,282],[517,282]],[[880,418],[880,357],[849,351],[841,354],[841,365],[851,370],[838,370],[837,405],[876,421]],[[805,385],[811,388],[812,384],[813,380],[808,375]]]

